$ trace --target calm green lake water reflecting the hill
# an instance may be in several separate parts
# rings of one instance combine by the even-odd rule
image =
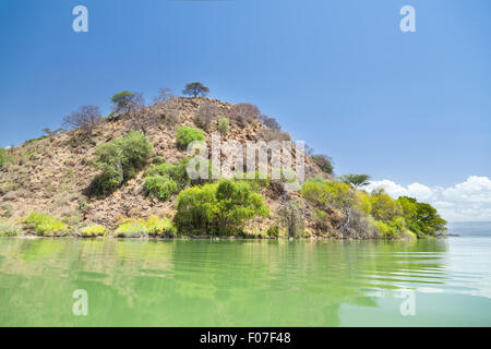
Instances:
[[[0,325],[490,326],[490,251],[491,238],[4,238]],[[86,316],[72,311],[77,289]]]

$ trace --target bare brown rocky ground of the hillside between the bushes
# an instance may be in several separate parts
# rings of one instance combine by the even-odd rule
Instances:
[[[218,117],[232,108],[230,104],[211,98],[173,98],[142,111],[146,135],[154,146],[149,163],[158,158],[177,164],[188,156],[177,147],[176,130],[180,125],[195,128],[193,118],[203,104],[216,108]],[[15,219],[32,212],[43,212],[74,225],[91,221],[109,227],[115,227],[124,217],[172,217],[176,195],[168,202],[145,196],[143,171],[107,197],[87,195],[87,188],[97,174],[93,166],[96,147],[131,130],[139,130],[139,127],[129,118],[117,116],[104,119],[89,140],[81,137],[80,130],[73,130],[9,149],[10,161],[0,172],[0,216]],[[212,132],[216,130],[217,122],[212,120],[205,132],[208,145]],[[246,127],[231,121],[230,131],[221,140],[260,141],[265,133],[267,128],[259,120],[252,120]],[[313,176],[328,177],[306,157],[306,178]],[[270,185],[261,193],[270,206],[270,217],[252,221],[248,229],[260,231],[267,228],[277,220],[277,209],[290,201],[303,205],[304,224],[313,229],[311,209],[299,192]],[[333,221],[339,219],[339,213],[333,210],[332,214]]]

